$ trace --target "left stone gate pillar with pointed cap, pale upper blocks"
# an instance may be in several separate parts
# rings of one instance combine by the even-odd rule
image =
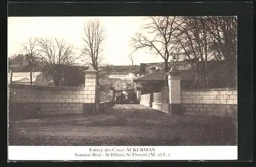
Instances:
[[[84,71],[84,96],[87,97],[87,99],[84,99],[84,108],[90,108],[90,110],[93,110],[93,113],[97,113],[97,105],[96,103],[99,103],[99,98],[97,97],[97,84],[96,84],[96,74],[98,71],[94,70],[92,66],[88,68],[88,70]]]

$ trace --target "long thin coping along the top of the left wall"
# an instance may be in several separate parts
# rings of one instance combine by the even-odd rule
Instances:
[[[84,88],[73,88],[73,87],[48,87],[48,86],[37,86],[37,85],[20,85],[20,84],[9,84],[8,88],[23,88],[23,89],[54,89],[54,90],[79,90],[83,91]]]

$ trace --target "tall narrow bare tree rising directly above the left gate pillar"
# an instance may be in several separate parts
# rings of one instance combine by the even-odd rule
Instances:
[[[101,26],[98,19],[90,20],[83,27],[84,46],[82,49],[82,54],[85,58],[86,63],[91,64],[96,71],[98,71],[99,66],[102,64],[103,56],[101,52],[102,42],[105,39],[104,28]]]

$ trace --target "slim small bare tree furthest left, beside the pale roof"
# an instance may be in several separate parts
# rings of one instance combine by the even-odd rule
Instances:
[[[29,43],[27,45],[23,45],[24,51],[27,53],[25,55],[25,64],[28,61],[29,72],[30,72],[30,85],[32,85],[32,72],[34,70],[35,61],[40,54],[40,50],[36,48],[37,39],[29,39]]]

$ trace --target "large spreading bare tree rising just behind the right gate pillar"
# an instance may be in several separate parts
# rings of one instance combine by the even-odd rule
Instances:
[[[144,24],[142,29],[146,33],[136,33],[132,38],[132,47],[134,52],[141,48],[148,48],[155,51],[164,60],[165,72],[168,72],[168,61],[172,58],[172,51],[177,41],[173,40],[173,33],[181,24],[178,17],[160,16],[148,17],[150,23]],[[167,84],[167,78],[166,78]]]

